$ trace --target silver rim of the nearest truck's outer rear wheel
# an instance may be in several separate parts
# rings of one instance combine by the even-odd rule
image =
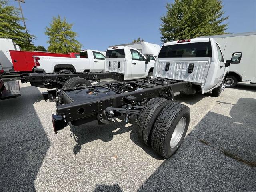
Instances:
[[[183,132],[185,130],[186,126],[186,118],[182,117],[178,124],[176,125],[174,132],[172,133],[172,138],[170,141],[170,147],[174,148],[178,142],[180,142],[180,139],[182,138]]]

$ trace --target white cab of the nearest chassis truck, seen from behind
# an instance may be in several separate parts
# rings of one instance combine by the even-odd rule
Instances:
[[[191,82],[204,94],[220,86],[224,89],[229,65],[213,38],[172,41],[163,44],[158,54],[154,78]]]

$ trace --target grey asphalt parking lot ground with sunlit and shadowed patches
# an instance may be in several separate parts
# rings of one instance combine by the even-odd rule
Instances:
[[[46,89],[20,84],[0,104],[1,191],[255,191],[256,86],[218,98],[180,95],[190,107],[186,138],[164,160],[140,142],[136,119],[52,129]]]

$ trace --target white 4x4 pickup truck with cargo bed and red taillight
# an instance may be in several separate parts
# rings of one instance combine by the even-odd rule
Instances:
[[[35,72],[95,72],[104,71],[104,52],[82,50],[80,58],[33,56]]]

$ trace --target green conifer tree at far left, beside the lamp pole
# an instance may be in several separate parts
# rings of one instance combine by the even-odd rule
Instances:
[[[25,32],[25,27],[20,25],[21,20],[17,8],[8,6],[6,0],[0,0],[0,38],[12,39],[22,50],[33,50],[32,39],[35,36]]]

